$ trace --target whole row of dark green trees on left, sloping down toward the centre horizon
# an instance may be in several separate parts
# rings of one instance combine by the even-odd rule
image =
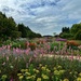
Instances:
[[[41,37],[40,33],[33,32],[29,27],[24,24],[16,24],[13,17],[6,17],[5,14],[0,12],[0,39],[2,41],[16,38],[36,38]]]

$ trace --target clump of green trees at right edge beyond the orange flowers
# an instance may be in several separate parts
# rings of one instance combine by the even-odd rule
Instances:
[[[62,32],[59,33],[59,37],[66,38],[66,39],[77,39],[81,40],[81,23],[80,24],[73,24],[70,29],[69,27],[63,27]]]

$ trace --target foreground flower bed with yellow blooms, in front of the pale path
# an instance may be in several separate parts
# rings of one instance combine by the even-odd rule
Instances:
[[[81,62],[33,55],[0,56],[1,81],[80,81]]]

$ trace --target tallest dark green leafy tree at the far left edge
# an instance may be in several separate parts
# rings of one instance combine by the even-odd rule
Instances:
[[[16,23],[12,17],[6,17],[0,12],[0,38],[6,40],[9,37],[14,38],[13,36],[19,37]]]

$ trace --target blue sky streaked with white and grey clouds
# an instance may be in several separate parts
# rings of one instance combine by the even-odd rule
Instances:
[[[0,11],[42,36],[81,23],[81,0],[0,0]]]

